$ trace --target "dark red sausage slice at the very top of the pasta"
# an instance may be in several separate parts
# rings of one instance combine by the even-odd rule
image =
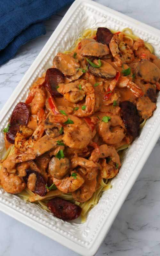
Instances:
[[[99,43],[109,45],[113,34],[108,28],[98,28],[96,36]]]

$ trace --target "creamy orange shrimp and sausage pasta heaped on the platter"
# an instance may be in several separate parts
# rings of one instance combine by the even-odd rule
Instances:
[[[160,60],[131,29],[85,30],[14,108],[0,185],[83,223],[156,109],[159,79]]]

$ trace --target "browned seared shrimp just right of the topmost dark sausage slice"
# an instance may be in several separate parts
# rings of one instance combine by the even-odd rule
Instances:
[[[117,66],[122,66],[123,62],[130,63],[134,60],[132,49],[128,44],[121,41],[122,35],[120,34],[115,34],[109,43],[110,51],[116,60]]]

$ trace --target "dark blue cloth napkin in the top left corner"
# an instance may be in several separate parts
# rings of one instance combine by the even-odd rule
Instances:
[[[0,0],[0,65],[22,44],[46,33],[43,20],[73,0]]]

